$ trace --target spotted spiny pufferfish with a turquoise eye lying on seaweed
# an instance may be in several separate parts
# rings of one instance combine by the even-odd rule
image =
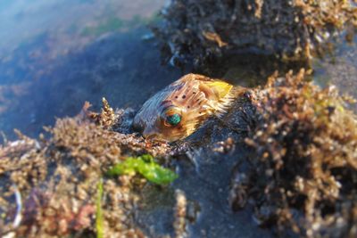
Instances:
[[[220,79],[187,74],[148,99],[133,127],[149,140],[175,142],[191,135],[234,101],[233,86]]]

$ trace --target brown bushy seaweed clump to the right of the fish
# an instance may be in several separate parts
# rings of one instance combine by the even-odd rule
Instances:
[[[357,118],[334,86],[277,75],[253,90],[253,155],[240,161],[230,202],[251,198],[256,221],[307,237],[357,236]],[[288,229],[287,229],[288,230]]]

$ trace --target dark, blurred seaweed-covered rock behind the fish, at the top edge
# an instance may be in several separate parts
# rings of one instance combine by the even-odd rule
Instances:
[[[357,22],[351,0],[173,0],[162,16],[167,60],[195,65],[241,50],[306,59]]]

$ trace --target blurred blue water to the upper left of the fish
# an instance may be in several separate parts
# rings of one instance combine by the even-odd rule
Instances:
[[[1,1],[0,130],[36,136],[86,100],[97,106],[106,96],[117,107],[135,106],[177,78],[177,70],[161,67],[154,44],[141,40],[162,4]]]

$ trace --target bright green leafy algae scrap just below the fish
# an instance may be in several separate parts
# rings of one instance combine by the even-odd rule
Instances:
[[[114,165],[106,174],[108,176],[134,176],[137,173],[157,185],[167,185],[178,178],[178,175],[170,169],[162,168],[162,166],[154,162],[154,157],[149,154],[144,154],[136,158],[129,157],[123,162]]]

